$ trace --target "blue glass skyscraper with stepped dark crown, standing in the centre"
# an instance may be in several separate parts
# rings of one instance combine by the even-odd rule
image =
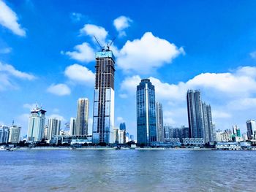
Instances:
[[[151,145],[157,141],[156,103],[154,85],[143,79],[137,86],[137,142]]]

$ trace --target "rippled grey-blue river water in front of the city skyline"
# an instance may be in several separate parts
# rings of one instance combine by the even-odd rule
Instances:
[[[0,151],[0,191],[256,191],[256,151]]]

